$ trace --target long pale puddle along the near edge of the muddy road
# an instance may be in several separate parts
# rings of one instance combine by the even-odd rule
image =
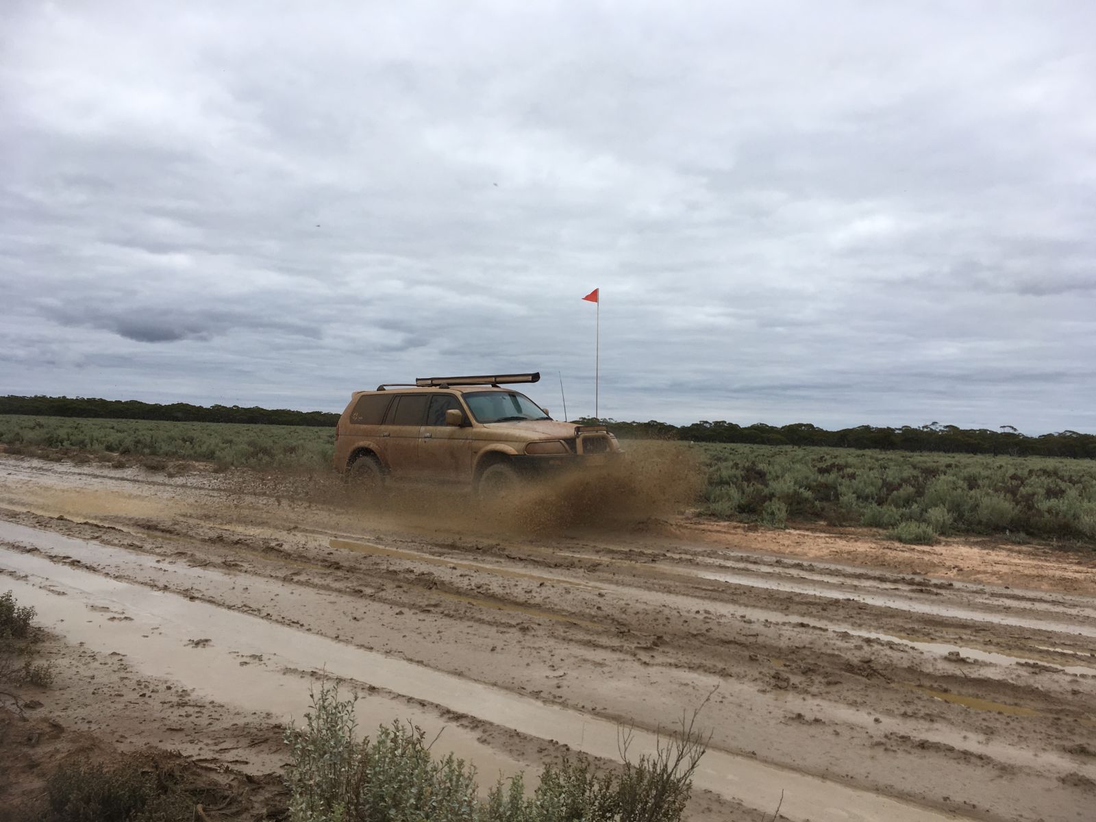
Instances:
[[[82,540],[0,524],[0,536],[11,537],[13,532],[21,533],[14,537],[21,541],[33,543],[34,536],[42,536],[54,545],[64,546],[62,550],[69,553],[100,548]],[[593,715],[540,703],[239,612],[60,566],[33,555],[0,549],[0,568],[36,576],[38,584],[48,582],[67,590],[69,596],[58,597],[31,582],[12,580],[5,583],[18,587],[16,596],[22,602],[39,607],[39,620],[48,627],[94,650],[121,650],[128,654],[130,664],[147,675],[175,680],[209,699],[248,710],[269,710],[283,717],[287,713],[299,716],[307,698],[301,693],[305,690],[302,683],[274,669],[324,669],[332,676],[441,705],[528,737],[564,743],[592,756],[618,758],[619,728]],[[105,613],[90,610],[88,605],[122,608],[134,621],[106,621]],[[153,628],[157,630],[151,630]],[[212,644],[186,649],[186,641],[195,638],[209,638]],[[230,651],[261,653],[264,665],[241,667],[239,658]],[[228,662],[230,664],[226,664]],[[364,729],[409,716],[421,720],[420,724],[427,732],[441,724],[437,717],[425,712],[416,719],[409,706],[384,697],[370,696],[358,705],[365,711]],[[632,753],[637,756],[652,753],[658,743],[657,734],[636,730]],[[513,760],[488,749],[475,739],[475,734],[459,728],[446,730],[438,750],[453,750],[465,756],[484,775],[513,773],[518,767]],[[709,749],[701,760],[694,785],[766,810],[776,807],[783,794],[783,813],[789,819],[817,822],[879,819],[943,822],[955,819],[950,814],[716,749]]]

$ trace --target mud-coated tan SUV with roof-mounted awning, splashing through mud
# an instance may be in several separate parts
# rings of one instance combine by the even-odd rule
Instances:
[[[619,455],[604,425],[559,422],[504,386],[539,374],[430,377],[355,391],[335,426],[334,467],[365,489],[387,479],[469,486],[490,496],[545,471]]]

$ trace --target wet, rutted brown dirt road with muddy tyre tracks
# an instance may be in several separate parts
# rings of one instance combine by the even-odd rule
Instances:
[[[1092,819],[1086,557],[396,507],[321,479],[0,458],[0,589],[58,637],[39,710],[264,773],[326,670],[364,728],[445,727],[490,780],[612,761],[620,724],[638,753],[703,705],[693,819],[768,819],[781,792],[791,820]]]

